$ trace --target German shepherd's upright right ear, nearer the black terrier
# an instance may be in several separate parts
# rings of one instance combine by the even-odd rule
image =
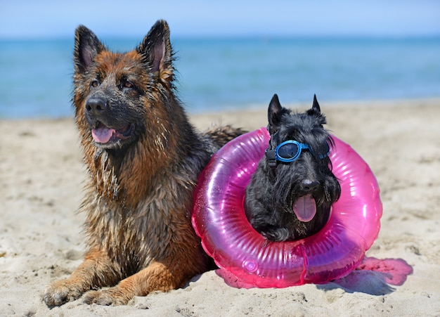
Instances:
[[[167,21],[157,20],[136,51],[143,56],[152,72],[159,72],[164,81],[172,81],[173,52]]]

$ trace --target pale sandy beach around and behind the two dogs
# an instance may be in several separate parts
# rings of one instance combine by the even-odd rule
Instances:
[[[72,118],[0,120],[0,316],[440,316],[440,99],[319,102],[327,128],[368,162],[380,185],[382,228],[366,254],[375,267],[283,289],[239,289],[209,271],[127,306],[77,300],[48,309],[44,288],[69,276],[85,248],[77,131]],[[190,119],[200,130],[253,130],[266,126],[266,112],[261,105]]]

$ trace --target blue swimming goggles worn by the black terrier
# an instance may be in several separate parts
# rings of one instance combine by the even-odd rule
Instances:
[[[312,155],[313,152],[311,148],[306,143],[299,143],[298,141],[287,140],[283,143],[280,143],[275,150],[267,149],[266,157],[268,158],[268,163],[270,167],[276,167],[276,161],[283,163],[290,163],[298,159],[299,155],[301,155],[302,150],[309,150]],[[319,158],[322,160],[324,157],[328,157],[330,153],[330,147],[328,152],[325,155],[319,155]]]

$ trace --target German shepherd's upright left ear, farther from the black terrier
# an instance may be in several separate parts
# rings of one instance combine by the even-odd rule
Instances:
[[[84,25],[79,25],[75,30],[74,61],[75,72],[83,73],[93,64],[93,60],[105,46],[98,37]]]

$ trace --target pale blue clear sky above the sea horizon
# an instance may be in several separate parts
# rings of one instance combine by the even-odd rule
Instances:
[[[142,37],[155,20],[172,35],[440,34],[439,0],[1,0],[0,38],[71,37],[84,24],[99,36]]]

